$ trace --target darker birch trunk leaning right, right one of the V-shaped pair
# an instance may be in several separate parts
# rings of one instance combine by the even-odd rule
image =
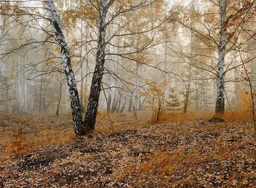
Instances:
[[[111,1],[113,3],[114,1]],[[102,83],[102,76],[104,71],[104,62],[105,62],[105,48],[106,48],[106,15],[108,13],[109,6],[111,3],[107,4],[107,0],[101,0],[99,4],[99,38],[98,38],[98,46],[97,46],[97,54],[96,54],[96,64],[95,70],[92,77],[92,85],[90,90],[90,96],[88,99],[88,107],[86,111],[86,115],[84,118],[84,124],[90,130],[93,130],[95,127],[97,110],[99,107],[99,98],[100,98],[100,90]],[[86,134],[86,129],[84,129],[84,134]]]

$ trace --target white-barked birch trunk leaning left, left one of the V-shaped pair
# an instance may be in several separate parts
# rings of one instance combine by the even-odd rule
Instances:
[[[62,25],[60,23],[60,17],[55,8],[54,1],[47,0],[46,4],[47,4],[47,11],[49,14],[49,20],[51,22],[52,30],[56,34],[58,42],[60,43],[61,59],[64,64],[65,75],[67,77],[68,92],[70,95],[70,106],[71,106],[72,116],[73,116],[74,131],[76,134],[79,135],[79,134],[82,134],[84,130],[82,126],[83,117],[81,112],[79,94],[76,87],[75,75],[72,70],[67,43],[65,41],[65,36],[63,35]]]

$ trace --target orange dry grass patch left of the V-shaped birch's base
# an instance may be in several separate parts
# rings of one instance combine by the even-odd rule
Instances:
[[[65,123],[67,121],[67,123]],[[0,158],[28,155],[31,148],[63,145],[75,138],[69,117],[54,115],[23,115],[2,119]],[[35,126],[36,125],[36,126]],[[71,124],[72,125],[72,124]],[[5,155],[4,155],[5,154]]]

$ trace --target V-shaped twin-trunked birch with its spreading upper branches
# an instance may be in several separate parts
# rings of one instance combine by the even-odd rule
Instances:
[[[95,12],[98,13],[98,15],[97,16],[93,15],[93,17],[92,17],[92,19],[96,20],[96,22],[97,22],[97,24],[95,24],[95,25],[97,25],[96,29],[93,26],[93,24],[86,23],[88,25],[92,25],[89,27],[91,27],[91,29],[93,31],[96,31],[94,34],[92,34],[88,37],[93,38],[96,36],[97,40],[92,39],[92,43],[96,42],[95,43],[96,45],[93,44],[93,46],[92,46],[92,50],[94,50],[93,47],[96,46],[96,50],[95,50],[96,53],[95,54],[92,53],[93,55],[95,55],[95,69],[93,71],[92,84],[91,84],[90,94],[89,94],[89,98],[88,98],[88,106],[87,106],[84,120],[82,117],[81,101],[79,98],[79,92],[77,89],[76,79],[75,79],[75,73],[77,71],[74,69],[74,67],[72,68],[72,65],[71,65],[72,55],[70,55],[70,54],[72,51],[70,51],[70,48],[68,48],[69,43],[67,43],[67,39],[65,38],[64,29],[61,25],[60,16],[58,14],[58,11],[56,10],[54,1],[53,0],[44,1],[44,3],[46,3],[46,7],[38,8],[38,10],[46,9],[49,18],[44,17],[44,15],[42,13],[36,12],[36,14],[33,14],[32,11],[35,11],[35,8],[27,7],[25,5],[25,3],[20,5],[20,7],[19,7],[23,11],[20,11],[19,13],[17,13],[17,12],[12,13],[12,15],[17,15],[17,17],[32,18],[31,20],[34,20],[36,22],[36,24],[35,23],[31,24],[30,20],[29,20],[28,22],[31,25],[28,24],[29,25],[28,27],[33,27],[33,28],[37,29],[38,31],[44,31],[44,33],[47,35],[45,37],[46,39],[42,39],[42,37],[40,38],[40,40],[34,39],[32,37],[29,38],[29,40],[33,41],[33,44],[37,44],[38,47],[40,45],[44,45],[44,43],[51,43],[51,44],[60,46],[61,60],[62,60],[64,68],[63,68],[63,70],[58,68],[58,71],[65,73],[65,78],[67,80],[68,94],[70,96],[70,106],[71,106],[71,110],[72,110],[74,130],[77,135],[83,135],[90,131],[93,131],[93,129],[95,127],[97,110],[99,107],[100,91],[102,90],[102,77],[104,75],[104,70],[107,71],[107,68],[104,66],[106,56],[111,57],[111,56],[118,55],[119,57],[121,57],[120,59],[122,59],[122,60],[128,59],[130,62],[131,61],[136,62],[136,64],[145,64],[145,61],[148,61],[147,59],[144,58],[145,54],[147,55],[146,51],[148,50],[148,48],[156,45],[156,43],[154,41],[154,35],[155,35],[154,29],[156,29],[159,25],[161,25],[161,23],[164,22],[165,18],[163,18],[163,20],[161,20],[157,23],[157,24],[159,24],[158,26],[156,24],[151,23],[151,24],[148,24],[148,27],[145,27],[143,29],[138,28],[138,27],[129,29],[129,25],[131,25],[131,23],[127,22],[127,20],[124,20],[124,22],[122,22],[119,25],[116,22],[114,22],[114,20],[118,17],[123,17],[124,15],[129,15],[129,16],[132,15],[131,11],[137,11],[137,13],[138,13],[138,12],[140,12],[140,8],[143,8],[143,10],[147,10],[147,6],[150,6],[154,2],[156,2],[156,1],[155,0],[152,0],[152,1],[149,1],[149,0],[148,1],[146,1],[146,0],[141,0],[141,1],[100,0],[100,1],[87,1],[85,3],[86,5],[90,4],[90,8],[88,8],[88,10],[91,10],[91,8],[92,8],[95,10]],[[67,3],[67,2],[63,2],[63,4],[65,4],[65,3]],[[115,6],[113,6],[114,3],[115,3]],[[84,5],[84,4],[82,3],[82,5]],[[11,8],[10,10],[13,11],[14,8],[13,9]],[[73,11],[73,13],[74,13],[74,11]],[[148,14],[148,12],[145,11],[145,15],[143,18],[141,18],[141,20],[143,20],[143,19],[147,20],[147,19],[145,19],[145,17],[147,17],[147,14]],[[86,21],[86,19],[88,17],[90,17],[90,15],[86,16],[84,20]],[[41,20],[41,19],[42,20],[47,19],[48,21],[50,21],[52,31],[47,31],[48,27],[44,28],[44,27],[42,27],[42,23],[40,24],[37,22],[38,20]],[[76,19],[76,17],[74,17],[74,19]],[[131,20],[131,21],[133,21],[133,20]],[[106,39],[106,32],[108,32],[107,28],[109,28],[109,30],[113,29],[113,27],[111,27],[111,28],[109,27],[109,25],[111,25],[111,24],[117,25],[116,31],[113,32],[113,34]],[[145,25],[147,25],[147,23]],[[83,27],[83,31],[86,29],[88,29],[88,27]],[[119,32],[120,30],[122,30],[122,32]],[[84,31],[84,32],[86,32],[86,31]],[[111,54],[110,52],[109,53],[105,52],[106,45],[114,45],[115,46],[115,44],[111,43],[113,38],[121,38],[122,39],[124,36],[132,36],[132,35],[137,36],[137,37],[141,36],[142,38],[144,38],[143,44],[140,45],[140,48],[137,48],[137,49],[133,48],[131,53],[127,53],[128,50],[120,50],[120,54],[116,54],[116,53]],[[150,38],[150,37],[152,37],[152,38]],[[29,41],[29,40],[26,40],[26,41]],[[132,38],[131,38],[131,40],[132,40]],[[127,43],[127,41],[122,41],[122,43],[123,42],[124,42],[124,44],[121,44],[121,46],[124,45],[123,48],[131,49],[131,47],[127,47],[129,45]],[[81,44],[82,44],[82,41],[81,41]],[[18,50],[20,50],[20,48],[22,48],[24,46],[29,46],[29,45],[31,45],[31,44],[29,44],[29,43],[21,44],[20,47],[11,49],[9,52],[6,52],[6,54],[4,54],[4,55],[9,55],[9,54],[12,54],[13,52],[17,52]],[[33,47],[33,45],[31,45],[31,47]],[[80,47],[81,51],[84,50],[84,48],[82,48],[81,45],[79,45],[79,47]],[[26,49],[28,49],[28,48],[26,48]],[[81,57],[81,51],[80,51],[80,57]],[[74,51],[73,51],[73,53],[74,53]],[[137,55],[137,53],[140,53],[140,55]],[[77,54],[79,54],[79,53],[77,53]],[[87,54],[87,53],[83,53],[83,54]],[[4,58],[4,55],[1,55],[0,58]],[[55,54],[53,54],[52,56],[54,56],[53,59],[58,58],[58,56],[56,56]],[[138,59],[136,57],[141,57],[141,59]],[[50,58],[51,57],[49,57],[49,59]],[[115,59],[115,58],[113,58],[113,59]],[[145,60],[145,61],[143,61],[143,60]],[[45,62],[45,61],[47,61],[47,60],[40,59],[40,62],[35,62],[35,66],[33,66],[33,69],[37,70],[37,73],[39,73],[41,68],[38,65],[40,65],[40,63]],[[55,63],[57,64],[58,62],[55,61]],[[36,66],[38,66],[38,67],[36,68]],[[81,64],[80,64],[80,67],[81,67]],[[56,68],[56,66],[55,66],[55,68]],[[41,73],[45,74],[46,71],[47,70],[45,70],[45,67],[44,67],[44,70],[42,70]],[[52,71],[55,71],[55,70],[53,69]],[[50,73],[50,72],[51,71],[49,71],[47,73]],[[122,73],[122,71],[120,71],[120,73]],[[41,75],[37,75],[38,78],[40,76]],[[83,77],[83,75],[81,77]],[[118,85],[119,85],[119,83],[120,82],[118,82]],[[44,85],[42,85],[42,87],[43,86]],[[120,88],[122,89],[122,87],[120,87]],[[129,89],[127,89],[127,90],[129,90]],[[44,99],[45,99],[44,92],[42,92],[42,103],[44,103]]]

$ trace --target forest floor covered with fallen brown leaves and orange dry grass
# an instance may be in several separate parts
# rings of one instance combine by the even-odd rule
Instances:
[[[129,115],[75,138],[70,115],[0,116],[0,187],[256,187],[252,122],[147,124]]]

